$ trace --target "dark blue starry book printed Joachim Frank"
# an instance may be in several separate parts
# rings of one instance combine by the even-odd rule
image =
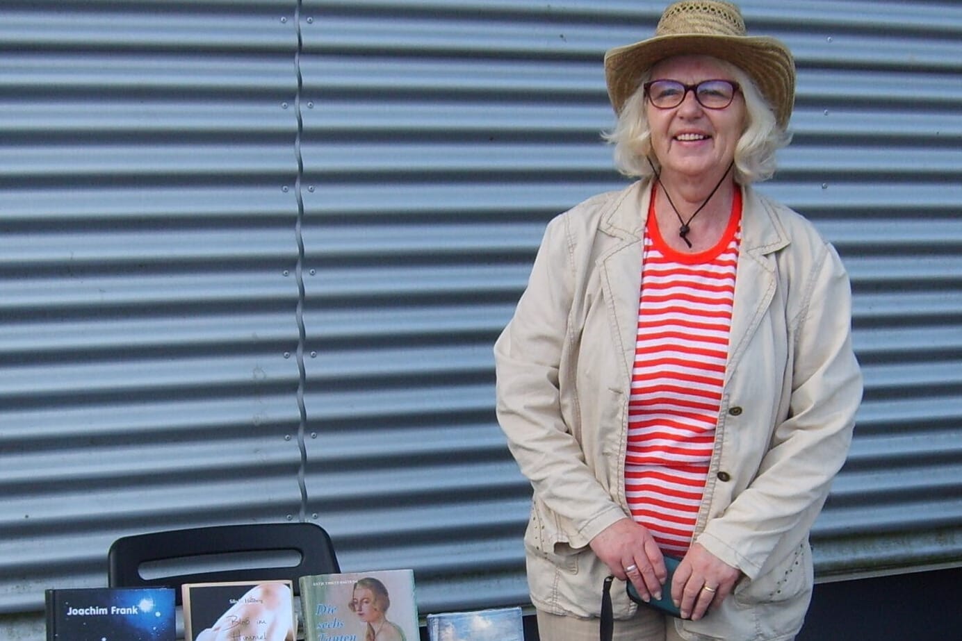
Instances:
[[[172,588],[46,590],[47,641],[174,641]]]

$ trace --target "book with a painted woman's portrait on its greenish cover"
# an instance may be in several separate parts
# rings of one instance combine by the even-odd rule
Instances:
[[[304,641],[418,641],[413,570],[300,578]]]

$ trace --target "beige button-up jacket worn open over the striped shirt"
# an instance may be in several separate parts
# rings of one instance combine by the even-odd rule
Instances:
[[[608,569],[589,541],[629,514],[627,405],[650,185],[552,220],[494,347],[497,414],[534,488],[525,534],[532,602],[597,617]],[[722,408],[696,541],[745,574],[690,639],[787,639],[813,571],[808,532],[845,461],[862,379],[848,276],[796,212],[744,187]],[[620,588],[619,588],[620,586]],[[623,583],[615,617],[635,611]]]

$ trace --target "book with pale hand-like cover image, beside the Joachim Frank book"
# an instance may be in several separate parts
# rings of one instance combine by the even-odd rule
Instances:
[[[290,580],[185,583],[185,641],[294,641]]]

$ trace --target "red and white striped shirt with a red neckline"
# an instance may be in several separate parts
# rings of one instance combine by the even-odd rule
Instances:
[[[741,196],[736,189],[719,243],[691,256],[665,243],[653,205],[648,212],[624,486],[635,521],[669,555],[688,551],[715,443]]]

